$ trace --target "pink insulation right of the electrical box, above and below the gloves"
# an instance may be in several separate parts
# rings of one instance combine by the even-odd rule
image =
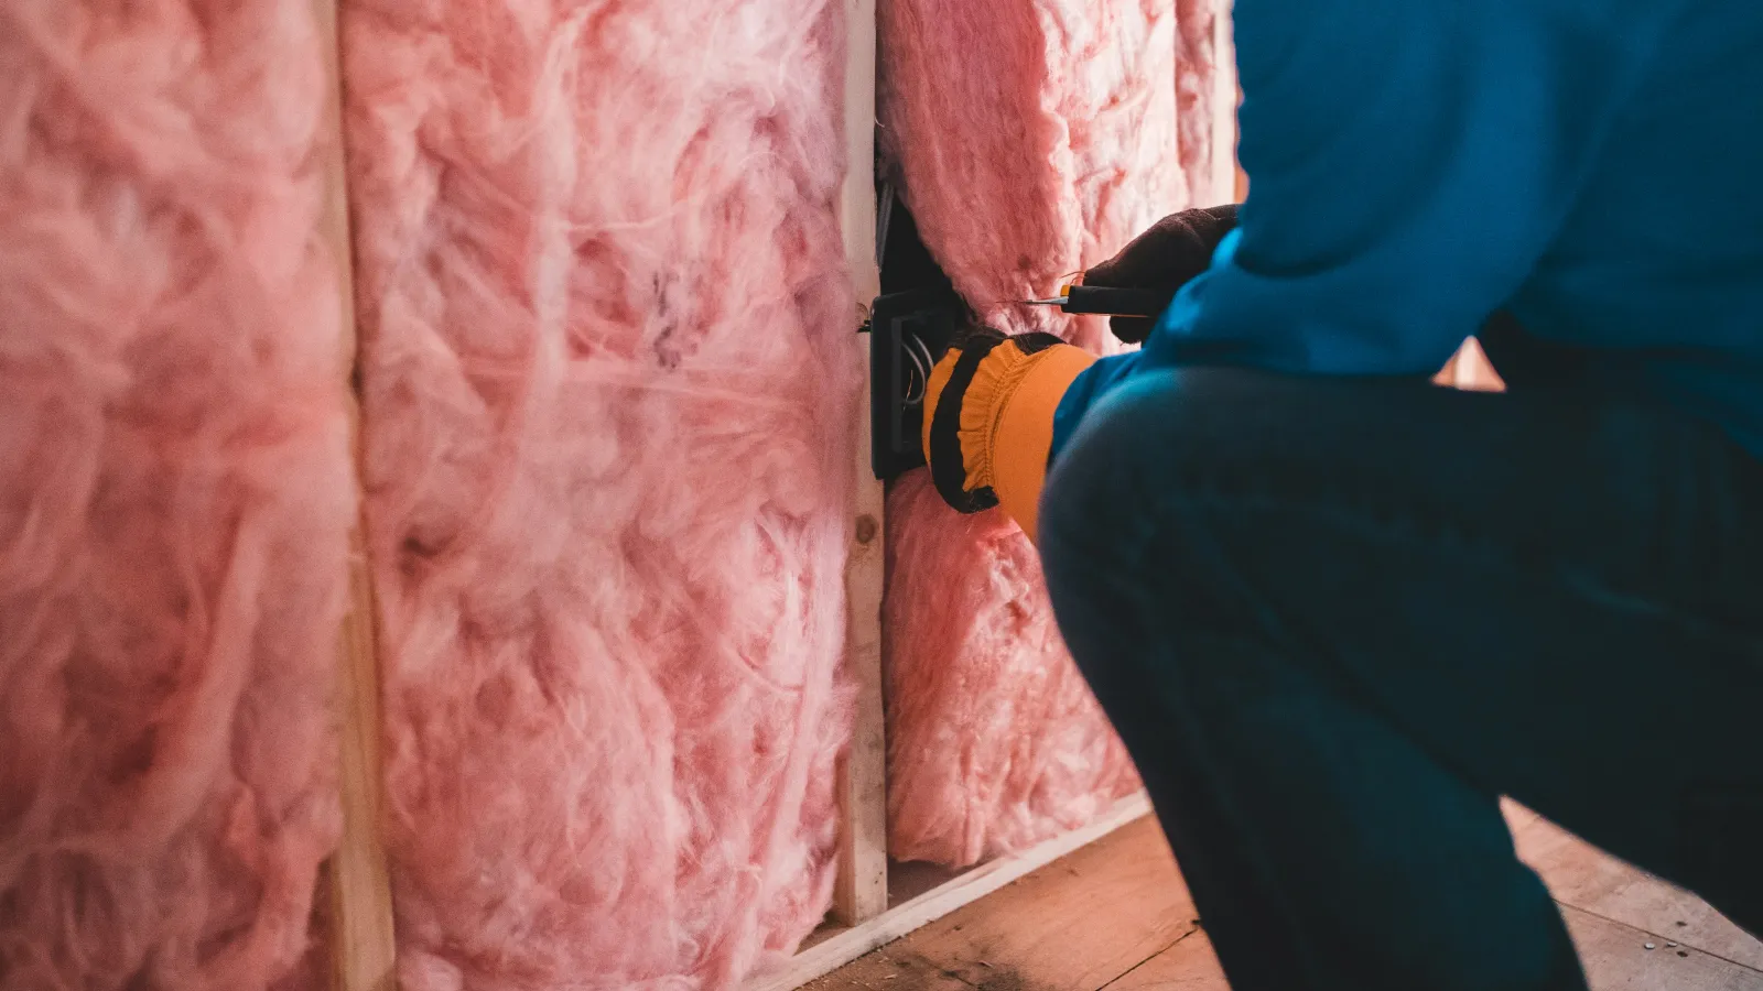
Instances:
[[[1213,0],[883,0],[882,139],[982,319],[1118,349],[1012,305],[1211,187]],[[924,478],[889,494],[889,848],[971,864],[1081,825],[1137,779],[1053,624],[1033,547]]]

